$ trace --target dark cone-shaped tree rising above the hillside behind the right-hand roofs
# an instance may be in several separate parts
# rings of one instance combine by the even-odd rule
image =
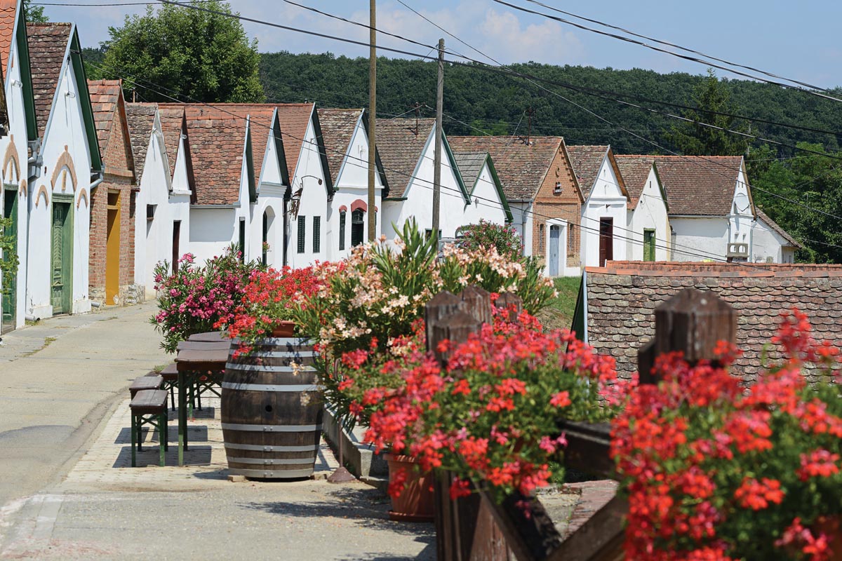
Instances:
[[[729,130],[742,130],[742,124],[733,117],[717,113],[735,114],[737,109],[731,103],[731,93],[720,82],[712,69],[707,70],[707,77],[695,87],[693,105],[699,108],[687,109],[682,116],[690,122],[682,121],[673,125],[670,140],[679,152],[687,156],[739,156],[749,146],[744,136],[724,130],[713,129],[705,124]]]

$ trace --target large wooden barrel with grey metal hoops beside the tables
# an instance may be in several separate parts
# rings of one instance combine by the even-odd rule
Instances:
[[[222,378],[222,437],[231,474],[309,477],[322,437],[322,400],[306,339],[267,338],[232,357]]]

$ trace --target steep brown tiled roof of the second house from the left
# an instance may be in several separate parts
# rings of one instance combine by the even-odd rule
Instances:
[[[26,24],[38,135],[44,136],[72,24]]]

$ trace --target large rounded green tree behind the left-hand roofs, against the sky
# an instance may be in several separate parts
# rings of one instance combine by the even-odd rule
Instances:
[[[232,13],[218,0],[202,7]],[[134,87],[130,80],[137,81],[137,93],[147,101],[264,101],[258,42],[248,40],[237,19],[170,4],[155,12],[150,6],[145,15],[126,16],[109,34],[101,45],[105,77],[127,78],[127,90]]]

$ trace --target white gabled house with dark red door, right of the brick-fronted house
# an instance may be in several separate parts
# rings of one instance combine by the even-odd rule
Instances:
[[[628,191],[610,146],[568,146],[582,188],[583,267],[626,260]]]

